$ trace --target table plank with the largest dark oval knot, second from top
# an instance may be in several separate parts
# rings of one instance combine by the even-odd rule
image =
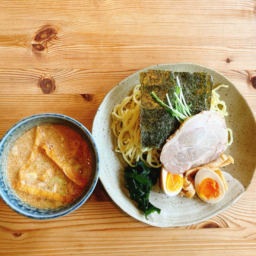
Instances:
[[[207,16],[204,17],[207,26],[202,26],[198,21],[199,17],[201,16],[191,20],[191,17],[184,15],[180,20],[174,14],[166,17],[164,22],[152,22],[152,16],[147,15],[142,21],[130,20],[129,22],[121,20],[0,20],[0,43],[36,44],[47,40],[53,44],[94,46],[182,44],[240,47],[255,44],[256,20],[250,16],[236,18],[236,22],[232,16],[227,16],[225,19],[223,16],[218,19]],[[52,30],[54,30],[53,35]]]

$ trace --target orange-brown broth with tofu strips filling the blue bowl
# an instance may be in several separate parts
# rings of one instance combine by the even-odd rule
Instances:
[[[46,209],[74,201],[89,184],[93,170],[87,140],[59,124],[43,124],[23,133],[7,160],[15,193],[25,203]]]

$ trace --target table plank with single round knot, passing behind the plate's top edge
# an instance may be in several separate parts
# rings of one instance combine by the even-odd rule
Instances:
[[[107,93],[124,78],[138,70],[133,69],[78,69],[78,68],[0,68],[0,94],[42,94],[40,81],[51,79],[56,94]],[[221,70],[239,91],[252,101],[256,89],[252,78],[256,70]]]

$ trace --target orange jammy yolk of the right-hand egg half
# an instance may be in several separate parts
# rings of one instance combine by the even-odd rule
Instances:
[[[205,178],[198,186],[200,197],[205,199],[214,199],[220,196],[220,187],[216,180]]]

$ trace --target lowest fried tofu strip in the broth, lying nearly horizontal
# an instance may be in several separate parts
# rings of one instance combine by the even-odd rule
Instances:
[[[25,183],[22,183],[20,181],[17,182],[16,188],[18,188],[21,191],[28,192],[29,194],[32,194],[32,195],[43,196],[45,198],[58,200],[58,201],[65,202],[65,203],[69,203],[73,200],[73,196],[60,195],[58,193],[43,190],[41,188],[36,188],[36,187],[33,187],[33,186],[29,186],[29,185],[27,185]]]

